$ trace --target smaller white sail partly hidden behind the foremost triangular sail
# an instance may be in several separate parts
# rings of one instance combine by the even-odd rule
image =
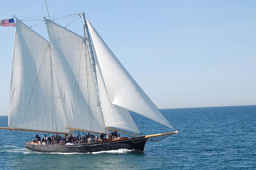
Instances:
[[[111,104],[96,55],[95,64],[98,78],[99,96],[101,98],[101,107],[105,126],[116,127],[140,133],[140,130],[132,119],[129,111],[123,107]]]

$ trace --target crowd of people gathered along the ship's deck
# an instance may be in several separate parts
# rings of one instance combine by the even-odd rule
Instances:
[[[106,138],[107,136],[107,138]],[[80,136],[79,133],[77,135],[69,134],[64,135],[63,137],[59,134],[55,135],[49,135],[48,137],[44,134],[44,136],[41,138],[41,136],[38,136],[36,134],[35,139],[32,140],[32,142],[38,142],[38,144],[45,144],[45,145],[55,145],[55,144],[82,144],[82,143],[96,143],[96,142],[103,142],[103,141],[111,141],[114,140],[114,138],[120,137],[120,134],[117,134],[117,131],[113,131],[109,134],[100,133],[98,135],[90,134],[83,134]]]

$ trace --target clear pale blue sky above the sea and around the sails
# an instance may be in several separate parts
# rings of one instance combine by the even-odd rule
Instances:
[[[28,18],[47,16],[44,0],[0,0],[0,6],[0,19],[15,15],[28,26],[39,23]],[[50,18],[84,11],[159,109],[256,104],[254,0],[47,0],[47,6]],[[45,24],[32,28],[47,38]],[[67,29],[83,35],[81,19]],[[0,115],[8,115],[14,30],[0,27]]]

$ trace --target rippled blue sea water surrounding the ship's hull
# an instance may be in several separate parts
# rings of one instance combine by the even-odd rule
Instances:
[[[256,106],[161,112],[179,133],[157,145],[148,141],[143,153],[125,149],[89,154],[39,153],[24,148],[24,142],[35,133],[0,130],[0,169],[256,169]],[[134,116],[144,134],[166,130]],[[0,116],[0,126],[7,124],[8,117]]]

